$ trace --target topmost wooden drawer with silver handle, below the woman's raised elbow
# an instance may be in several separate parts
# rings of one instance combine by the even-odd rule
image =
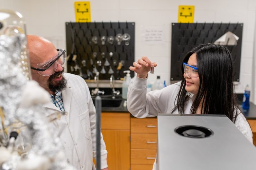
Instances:
[[[131,133],[157,133],[157,118],[131,118]]]

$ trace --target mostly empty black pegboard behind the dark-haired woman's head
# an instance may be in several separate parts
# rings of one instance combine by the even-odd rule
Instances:
[[[214,43],[226,32],[239,37],[236,46],[226,46],[233,58],[234,81],[239,82],[243,23],[172,23],[171,81],[180,81],[182,60],[199,44]]]

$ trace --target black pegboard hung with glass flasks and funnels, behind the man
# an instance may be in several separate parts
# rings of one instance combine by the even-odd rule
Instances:
[[[123,40],[119,44],[115,39],[116,35],[125,33],[130,35],[130,40]],[[97,41],[92,40],[94,36]],[[102,36],[106,36],[105,44],[102,44]],[[108,41],[110,36],[114,38],[112,44]],[[114,71],[115,79],[120,79],[126,75],[123,71],[129,70],[129,66],[134,62],[134,42],[134,22],[66,22],[67,72],[80,75],[84,79],[93,79],[94,67],[100,72],[108,60],[110,66],[104,66],[106,73],[100,73],[99,79],[110,79],[110,67]],[[101,65],[97,61],[101,61]],[[117,70],[119,62],[122,67]],[[131,72],[131,77],[133,76],[134,72]]]

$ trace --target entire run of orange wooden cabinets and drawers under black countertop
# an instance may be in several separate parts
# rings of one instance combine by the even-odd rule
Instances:
[[[256,146],[256,120],[248,120]],[[101,131],[109,170],[152,170],[157,148],[157,118],[102,113]]]

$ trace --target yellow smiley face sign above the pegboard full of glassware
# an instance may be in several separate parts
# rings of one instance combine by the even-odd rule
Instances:
[[[75,2],[76,22],[91,22],[90,2]]]

